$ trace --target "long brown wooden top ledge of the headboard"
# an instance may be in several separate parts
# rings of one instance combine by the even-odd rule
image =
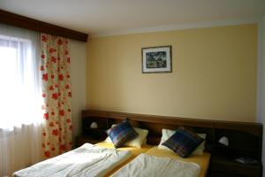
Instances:
[[[211,127],[211,128],[221,128],[221,129],[223,128],[223,129],[241,130],[257,136],[262,135],[262,125],[253,122],[191,119],[191,118],[157,116],[157,115],[147,115],[147,114],[137,114],[137,113],[126,113],[126,112],[108,112],[108,111],[97,111],[97,110],[85,110],[82,112],[82,118],[93,117],[93,116],[101,118],[122,119],[122,120],[125,118],[129,118],[134,121],[164,123],[164,124],[171,124],[178,126],[182,125],[187,127]]]

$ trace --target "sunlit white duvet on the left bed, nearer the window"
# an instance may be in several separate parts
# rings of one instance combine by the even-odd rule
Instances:
[[[131,156],[130,151],[105,149],[85,143],[78,149],[13,173],[13,177],[103,176]]]

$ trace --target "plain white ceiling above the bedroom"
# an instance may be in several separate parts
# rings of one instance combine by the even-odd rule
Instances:
[[[265,14],[265,0],[0,0],[0,9],[89,35]]]

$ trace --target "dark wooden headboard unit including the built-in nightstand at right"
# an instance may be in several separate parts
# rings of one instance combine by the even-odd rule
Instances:
[[[217,176],[225,176],[223,172],[238,176],[253,176],[252,174],[258,173],[260,174],[258,176],[261,176],[262,125],[259,123],[85,110],[82,111],[82,134],[105,137],[107,136],[105,131],[112,124],[117,124],[124,119],[128,119],[133,127],[148,129],[147,142],[154,145],[160,142],[163,128],[186,127],[195,133],[207,134],[205,150],[211,153],[209,171],[213,176],[217,174]],[[96,131],[90,128],[92,122],[98,124]],[[229,139],[229,146],[219,143],[219,139],[223,136]],[[103,140],[104,137],[98,138]],[[240,157],[254,158],[258,160],[258,164],[239,165],[234,159]],[[231,168],[231,165],[236,166],[238,170]]]

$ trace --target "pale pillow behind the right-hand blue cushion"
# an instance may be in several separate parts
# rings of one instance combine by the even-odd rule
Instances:
[[[163,150],[170,150],[168,147],[162,145],[163,142],[167,141],[171,135],[175,134],[175,130],[170,130],[170,129],[162,129],[162,137],[161,141],[158,145],[158,149],[163,149]],[[201,138],[205,139],[206,134],[197,134]],[[203,150],[205,149],[205,141],[201,142],[201,144],[193,151],[192,155],[199,155],[201,156],[203,153]]]

